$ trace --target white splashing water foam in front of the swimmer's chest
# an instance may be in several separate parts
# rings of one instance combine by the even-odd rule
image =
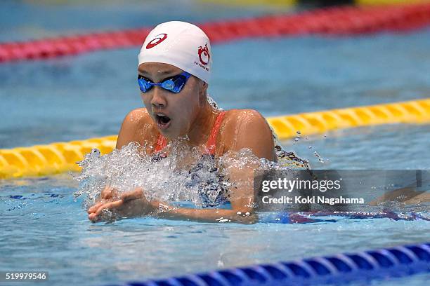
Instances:
[[[146,148],[136,142],[104,156],[93,149],[79,162],[82,172],[74,176],[79,181],[79,190],[74,196],[86,195],[84,205],[89,207],[105,186],[117,189],[119,195],[140,186],[148,200],[188,201],[195,207],[216,206],[222,203],[222,198],[228,200],[230,196],[228,190],[233,186],[227,178],[232,172],[248,172],[247,176],[252,176],[256,169],[306,165],[306,161],[282,149],[277,150],[280,163],[259,159],[249,149],[228,151],[220,158],[212,158],[202,156],[202,147],[190,147],[186,141],[186,138],[178,139],[168,144],[163,152],[169,156],[162,159],[145,154]],[[249,177],[235,179],[235,184],[253,187]]]

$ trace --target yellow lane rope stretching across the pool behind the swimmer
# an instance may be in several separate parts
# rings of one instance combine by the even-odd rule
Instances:
[[[267,118],[280,139],[297,135],[312,135],[339,128],[353,128],[387,123],[429,123],[430,98],[410,102],[377,104],[328,111]],[[107,154],[115,148],[117,136],[82,141],[57,142],[32,147],[0,149],[0,179],[51,175],[79,171],[76,164],[84,154],[97,148]]]

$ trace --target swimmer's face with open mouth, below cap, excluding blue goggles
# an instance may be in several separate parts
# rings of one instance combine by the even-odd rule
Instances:
[[[145,62],[138,67],[138,74],[153,83],[161,83],[182,73],[183,70],[178,67],[158,62]],[[141,92],[141,97],[159,131],[164,136],[175,139],[188,134],[202,107],[206,89],[204,81],[190,76],[180,93],[152,86],[146,93]]]

